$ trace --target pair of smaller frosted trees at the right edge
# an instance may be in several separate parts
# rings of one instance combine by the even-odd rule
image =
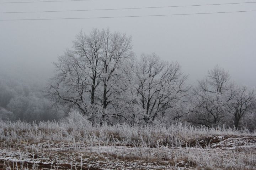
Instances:
[[[208,126],[223,124],[231,116],[238,128],[244,114],[255,107],[255,90],[230,81],[229,73],[218,65],[198,81],[193,95],[190,121]]]

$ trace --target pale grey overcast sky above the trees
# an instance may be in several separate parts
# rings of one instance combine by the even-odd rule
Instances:
[[[0,0],[0,2],[40,0]],[[43,0],[41,0],[43,1]],[[87,10],[178,5],[201,5],[253,0],[90,0],[0,4],[0,12]],[[0,13],[0,19],[169,15],[256,10],[256,3],[114,11]],[[47,79],[52,62],[72,47],[82,29],[106,28],[132,35],[134,52],[157,53],[177,61],[190,82],[201,79],[216,64],[229,70],[238,83],[256,86],[256,12],[205,15],[0,21],[0,72]]]

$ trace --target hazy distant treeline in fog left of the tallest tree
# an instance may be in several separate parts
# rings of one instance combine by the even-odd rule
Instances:
[[[64,115],[64,109],[57,109],[42,92],[44,84],[33,80],[0,75],[0,119],[47,121],[57,120]]]

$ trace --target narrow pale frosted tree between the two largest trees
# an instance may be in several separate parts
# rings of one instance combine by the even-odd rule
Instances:
[[[134,85],[137,83],[136,66],[137,60],[130,58],[121,67],[119,72],[119,79],[121,81],[116,82],[115,88],[118,93],[116,93],[112,103],[114,109],[112,117],[116,118],[118,122],[140,123],[144,115],[140,98],[137,95],[137,90],[134,88]]]

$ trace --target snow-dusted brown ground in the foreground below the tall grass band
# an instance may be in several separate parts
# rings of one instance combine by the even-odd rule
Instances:
[[[188,147],[88,146],[82,142],[49,141],[10,145],[3,141],[0,169],[254,170],[255,143],[255,136],[209,136],[191,141]]]

